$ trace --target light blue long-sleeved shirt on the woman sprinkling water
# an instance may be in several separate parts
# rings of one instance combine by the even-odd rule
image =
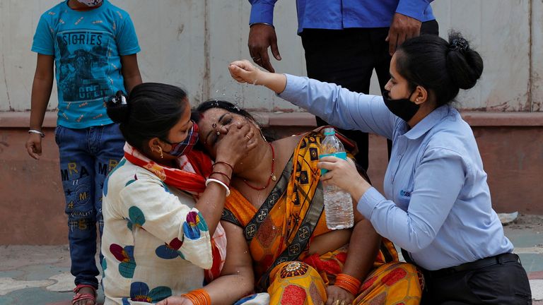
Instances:
[[[472,129],[445,105],[413,128],[383,97],[287,75],[279,97],[344,129],[392,140],[385,196],[371,188],[358,211],[422,268],[438,270],[513,251],[492,209]]]

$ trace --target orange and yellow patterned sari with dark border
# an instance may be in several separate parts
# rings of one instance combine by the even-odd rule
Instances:
[[[330,232],[317,168],[322,138],[312,131],[300,140],[258,210],[235,190],[225,203],[223,220],[244,229],[257,291],[267,291],[270,304],[324,304],[325,287],[334,285],[346,261],[347,246],[321,256],[308,255],[311,240]],[[387,239],[362,282],[354,304],[419,304],[419,275],[414,266],[398,262],[397,251]]]

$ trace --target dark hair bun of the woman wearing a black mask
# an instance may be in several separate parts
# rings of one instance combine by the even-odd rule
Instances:
[[[473,88],[483,73],[481,55],[469,47],[459,32],[449,33],[446,64],[450,78],[460,89]]]

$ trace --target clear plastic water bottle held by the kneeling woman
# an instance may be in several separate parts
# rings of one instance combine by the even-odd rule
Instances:
[[[334,128],[325,128],[325,139],[320,145],[321,157],[334,156],[346,159],[347,154]],[[321,169],[325,174],[327,169]],[[328,229],[346,229],[354,225],[353,201],[351,195],[334,185],[324,187],[325,214]]]

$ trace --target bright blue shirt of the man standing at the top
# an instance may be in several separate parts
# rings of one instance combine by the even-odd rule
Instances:
[[[249,23],[274,23],[277,0],[249,0]],[[298,33],[306,28],[387,28],[394,13],[422,22],[434,20],[433,0],[296,0]]]

